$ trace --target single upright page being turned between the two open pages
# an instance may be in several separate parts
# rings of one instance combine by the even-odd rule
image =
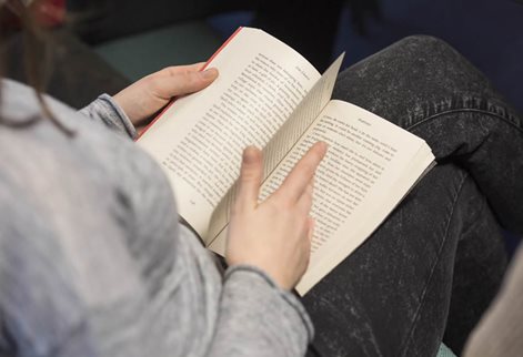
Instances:
[[[262,182],[274,171],[280,161],[289,153],[303,133],[309,129],[318,114],[329,103],[338,72],[343,62],[344,54],[340,55],[323,73],[321,79],[309,91],[296,110],[272,136],[263,147],[263,177]],[[228,191],[214,210],[209,226],[208,236],[204,237],[207,245],[214,241],[230,220],[231,205],[234,203],[238,191],[238,182]],[[223,246],[223,244],[222,244]],[[223,252],[217,252],[222,254]]]

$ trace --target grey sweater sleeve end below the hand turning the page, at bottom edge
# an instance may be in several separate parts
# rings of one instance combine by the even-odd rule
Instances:
[[[314,334],[300,300],[260,269],[225,272],[217,334],[209,356],[304,356]]]

